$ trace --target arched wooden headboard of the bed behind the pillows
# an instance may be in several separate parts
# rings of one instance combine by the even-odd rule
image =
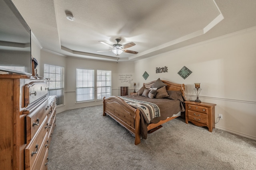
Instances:
[[[176,84],[173,82],[169,82],[167,80],[161,80],[164,84],[166,84],[166,90],[174,90],[174,91],[181,91],[182,96],[185,98],[185,85],[184,84]],[[149,83],[143,83],[143,85],[149,89],[152,84],[154,84],[154,82],[156,82],[156,80],[149,82]]]

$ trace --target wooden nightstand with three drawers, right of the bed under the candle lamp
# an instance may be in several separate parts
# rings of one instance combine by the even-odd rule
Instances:
[[[215,128],[215,106],[211,103],[198,103],[185,101],[186,104],[186,123],[188,121],[197,126],[206,126],[208,131],[212,132]]]

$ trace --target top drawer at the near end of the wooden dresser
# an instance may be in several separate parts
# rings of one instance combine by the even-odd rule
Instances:
[[[48,88],[46,81],[30,82],[24,86],[25,107],[34,101],[46,96]]]

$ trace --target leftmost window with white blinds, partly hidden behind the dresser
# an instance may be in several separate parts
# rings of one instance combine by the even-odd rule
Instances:
[[[56,97],[56,105],[64,104],[64,67],[44,64],[44,77],[47,81],[48,94]]]

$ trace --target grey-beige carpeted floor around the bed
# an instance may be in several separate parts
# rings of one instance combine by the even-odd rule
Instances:
[[[134,137],[103,106],[57,113],[48,170],[254,170],[256,141],[176,118]]]

